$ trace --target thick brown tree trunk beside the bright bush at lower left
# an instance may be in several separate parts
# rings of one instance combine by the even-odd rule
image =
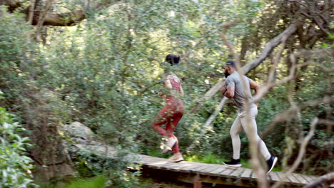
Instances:
[[[59,127],[59,116],[48,108],[49,98],[56,98],[50,90],[26,88],[26,100],[19,101],[24,108],[23,118],[32,148],[30,157],[34,160],[34,181],[38,184],[56,183],[74,177],[74,169],[63,145]],[[51,95],[51,96],[50,96]]]

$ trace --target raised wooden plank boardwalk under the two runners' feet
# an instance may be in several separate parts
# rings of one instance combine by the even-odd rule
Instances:
[[[95,155],[115,157],[116,150],[113,147],[102,145],[99,142],[87,144],[75,144],[81,150],[93,152]],[[256,187],[257,179],[253,169],[243,167],[228,167],[222,164],[206,164],[199,162],[168,162],[167,159],[151,157],[148,155],[127,155],[126,160],[141,164],[143,172],[158,174],[160,177],[173,177],[181,182],[194,184],[201,187],[201,182],[226,184],[238,187]],[[270,172],[267,176],[268,182],[282,182],[280,187],[304,187],[315,181],[318,177],[306,174],[291,174],[283,177],[283,172]],[[334,187],[331,184],[330,187]]]

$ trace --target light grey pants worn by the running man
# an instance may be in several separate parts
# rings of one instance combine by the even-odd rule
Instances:
[[[233,145],[233,159],[240,159],[240,137],[239,133],[241,130],[245,130],[248,140],[250,139],[251,135],[256,138],[257,142],[259,143],[260,152],[265,158],[268,160],[270,158],[270,153],[265,146],[263,140],[260,139],[258,136],[258,127],[256,125],[255,117],[258,115],[258,108],[254,107],[251,108],[250,111],[249,122],[247,123],[246,120],[246,112],[239,113],[236,120],[234,120],[233,125],[230,130],[231,138],[232,138],[232,145]]]

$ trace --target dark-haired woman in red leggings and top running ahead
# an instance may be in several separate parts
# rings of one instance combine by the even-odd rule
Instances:
[[[183,104],[181,97],[183,96],[183,89],[181,87],[181,80],[178,78],[171,69],[178,65],[180,57],[174,54],[168,54],[166,56],[166,62],[170,66],[165,66],[167,75],[164,78],[164,89],[163,92],[159,93],[161,98],[166,99],[166,105],[160,110],[158,115],[153,121],[153,130],[156,130],[166,143],[163,147],[163,152],[168,152],[168,150],[173,150],[174,155],[168,159],[169,162],[180,162],[183,161],[183,156],[178,148],[178,139],[173,132],[178,125],[178,122],[183,116]],[[161,127],[166,125],[164,129]]]

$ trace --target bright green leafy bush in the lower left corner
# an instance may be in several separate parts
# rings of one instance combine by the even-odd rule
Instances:
[[[0,187],[24,188],[32,184],[31,159],[25,147],[28,137],[21,137],[24,128],[14,122],[13,115],[0,108]]]

